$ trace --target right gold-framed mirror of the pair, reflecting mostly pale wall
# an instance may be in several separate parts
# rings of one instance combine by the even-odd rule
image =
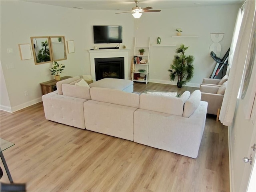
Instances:
[[[50,44],[52,48],[52,60],[60,61],[67,59],[64,36],[51,36]]]

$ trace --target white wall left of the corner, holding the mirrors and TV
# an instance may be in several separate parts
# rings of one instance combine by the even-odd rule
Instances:
[[[34,59],[20,60],[18,44],[31,44],[31,36],[65,36],[66,41],[74,40],[75,53],[67,54],[67,60],[59,61],[65,64],[61,76],[90,74],[87,50],[94,47],[93,25],[122,25],[123,44],[132,46],[133,18],[127,14],[116,16],[110,11],[76,10],[24,1],[0,3],[1,65],[8,92],[1,89],[1,96],[8,95],[10,100],[9,106],[2,100],[1,105],[10,107],[10,112],[40,102],[40,82],[54,79],[49,70],[51,63],[35,65]],[[8,54],[7,48],[12,48],[13,53]],[[7,69],[7,66],[13,68]],[[25,96],[25,91],[28,91],[28,96]]]

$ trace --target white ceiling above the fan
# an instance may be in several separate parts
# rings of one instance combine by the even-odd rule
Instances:
[[[134,0],[25,0],[67,8],[83,8],[85,10],[131,10],[136,4]],[[150,6],[154,9],[170,9],[179,7],[215,6],[242,4],[244,0],[141,0],[138,6]]]

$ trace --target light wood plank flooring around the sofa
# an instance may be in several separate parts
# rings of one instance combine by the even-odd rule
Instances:
[[[197,88],[134,83],[134,91]],[[27,191],[229,191],[228,130],[207,116],[193,159],[45,119],[42,102],[1,111],[0,136],[15,145],[4,156]],[[2,162],[1,167],[3,168]],[[4,171],[1,182],[8,183]]]

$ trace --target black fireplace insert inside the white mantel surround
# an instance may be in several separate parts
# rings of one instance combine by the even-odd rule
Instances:
[[[96,81],[103,78],[124,79],[124,57],[95,58]]]

